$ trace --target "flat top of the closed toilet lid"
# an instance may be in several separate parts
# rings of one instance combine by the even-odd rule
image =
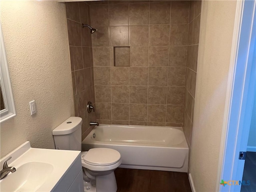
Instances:
[[[108,166],[115,164],[121,158],[118,151],[109,148],[93,148],[84,156],[84,162],[96,166]]]

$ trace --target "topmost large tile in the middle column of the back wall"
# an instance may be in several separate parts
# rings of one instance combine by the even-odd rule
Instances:
[[[149,3],[129,4],[129,25],[148,25]]]

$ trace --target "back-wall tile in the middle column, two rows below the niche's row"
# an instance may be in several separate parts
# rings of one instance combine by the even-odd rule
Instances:
[[[148,101],[148,86],[130,86],[130,103],[144,103]]]

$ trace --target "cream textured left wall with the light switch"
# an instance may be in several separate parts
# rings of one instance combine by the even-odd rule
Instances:
[[[27,140],[54,148],[52,130],[74,115],[65,4],[1,1],[0,11],[17,112],[1,123],[1,156]]]

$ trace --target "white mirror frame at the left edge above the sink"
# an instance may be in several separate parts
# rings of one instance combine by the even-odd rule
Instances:
[[[2,25],[0,22],[0,85],[2,96],[4,99],[5,109],[0,110],[0,123],[16,116],[14,98],[12,94],[12,85],[9,75],[6,51],[4,47],[4,36],[2,33]]]

